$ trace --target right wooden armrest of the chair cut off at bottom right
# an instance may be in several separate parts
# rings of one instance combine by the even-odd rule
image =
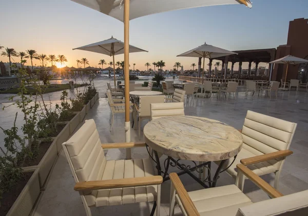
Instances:
[[[278,190],[273,188],[271,185],[269,185],[267,182],[265,182],[263,179],[261,179],[257,174],[255,174],[252,170],[244,166],[243,164],[236,165],[238,170],[243,172],[245,176],[249,180],[251,180],[253,183],[255,183],[260,189],[262,189],[265,193],[269,195],[271,198],[278,198],[282,197],[283,194],[280,193]]]

